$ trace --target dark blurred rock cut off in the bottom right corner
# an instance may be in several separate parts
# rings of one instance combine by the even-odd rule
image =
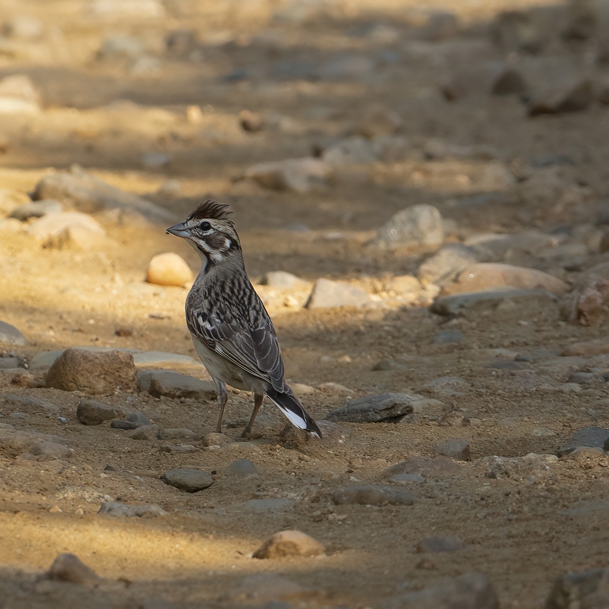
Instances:
[[[558,577],[546,609],[603,609],[609,604],[609,569],[589,569]]]

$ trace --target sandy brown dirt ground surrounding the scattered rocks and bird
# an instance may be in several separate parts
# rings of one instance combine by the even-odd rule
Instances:
[[[177,219],[214,197],[233,206],[253,280],[286,270],[311,284],[320,277],[353,281],[379,300],[385,298],[384,281],[415,273],[424,258],[421,252],[393,255],[364,246],[400,209],[437,206],[457,227],[449,237],[453,241],[531,228],[559,234],[565,227],[583,241],[599,201],[609,194],[606,107],[595,103],[579,113],[532,119],[517,96],[449,103],[438,90],[462,60],[504,58],[489,33],[501,10],[554,10],[549,2],[426,2],[426,8],[449,10],[459,19],[459,30],[442,41],[417,37],[423,17],[410,0],[321,3],[325,8],[311,19],[273,18],[285,3],[270,1],[168,0],[161,18],[116,19],[91,16],[87,10],[93,4],[19,0],[0,5],[0,23],[30,15],[43,25],[40,38],[7,43],[4,52],[0,44],[0,76],[29,75],[43,107],[33,116],[0,116],[8,142],[0,157],[4,189],[32,191],[43,175],[78,163],[171,210]],[[385,25],[390,33],[357,33],[367,32],[370,24]],[[164,52],[167,32],[188,29],[199,38],[194,51]],[[132,58],[98,58],[110,35],[138,38],[148,49],[144,55],[155,61],[134,69]],[[585,62],[585,46],[569,49],[558,38],[548,53]],[[313,79],[292,73],[299,62],[320,66],[344,54],[381,59],[362,77]],[[281,68],[289,76],[279,62],[292,62]],[[240,69],[248,76],[227,77]],[[378,162],[345,169],[325,191],[305,194],[239,179],[253,163],[310,155],[347,133],[378,103],[400,114],[401,133],[410,141],[488,146],[518,180],[528,175],[535,158],[569,155],[572,163],[565,171],[593,196],[573,215],[567,209],[553,216],[533,204],[518,213],[511,206],[462,208],[459,197],[493,190],[476,185],[488,160],[450,153],[437,161],[446,163],[445,173],[426,172],[438,165],[424,156]],[[201,113],[188,119],[193,105]],[[246,133],[238,121],[242,110],[265,113],[267,123],[275,124]],[[166,152],[171,163],[143,167],[147,152]],[[177,180],[177,188],[169,190],[167,180]],[[196,357],[183,316],[187,290],[144,283],[153,255],[177,252],[196,271],[195,253],[166,235],[164,226],[111,224],[103,214],[96,217],[107,230],[105,248],[42,248],[23,228],[0,233],[0,319],[27,337],[26,347],[7,345],[4,353],[16,353],[22,364],[41,351],[82,345]],[[578,227],[584,228],[578,232]],[[572,282],[602,259],[591,248],[577,269],[534,256],[516,263]],[[543,605],[561,574],[607,566],[606,457],[565,457],[543,471],[499,479],[485,475],[488,462],[481,460],[555,454],[578,429],[609,427],[609,390],[602,384],[565,389],[569,373],[582,365],[559,361],[568,345],[604,336],[606,320],[572,325],[561,320],[558,306],[539,309],[535,303],[455,319],[424,306],[392,303],[315,310],[301,306],[308,289],[294,294],[287,306],[287,294],[260,290],[280,337],[286,378],[315,388],[303,401],[318,420],[348,398],[418,393],[443,376],[459,376],[468,387],[434,395],[443,407],[409,422],[349,423],[351,434],[343,443],[286,438],[281,414],[266,404],[257,423],[260,437],[230,451],[179,453],[164,451],[174,441],[132,440],[108,423],[84,426],[76,418],[80,395],[19,387],[0,370],[2,421],[57,435],[75,450],[68,459],[19,456],[10,449],[0,453],[0,607],[262,607],[281,596],[271,583],[263,583],[258,596],[239,593],[245,577],[260,574],[278,574],[303,588],[284,599],[288,607],[379,607],[390,597],[474,570],[493,582],[502,608],[533,609]],[[117,335],[121,328],[128,336]],[[434,342],[441,329],[458,330],[463,339]],[[401,366],[373,370],[385,358]],[[193,373],[205,378],[202,370]],[[537,378],[543,383],[531,380]],[[350,393],[318,389],[330,382]],[[42,412],[9,418],[15,406],[6,394],[55,404],[68,423]],[[213,403],[146,393],[100,399],[128,403],[166,428],[192,429],[199,438],[214,430],[217,416]],[[238,437],[250,400],[230,393],[227,434]],[[434,457],[435,446],[452,438],[470,441],[470,462],[454,471],[423,472],[426,482],[406,487],[416,497],[414,505],[331,501],[336,488],[384,482],[390,465]],[[241,458],[255,463],[258,476],[225,473]],[[189,494],[160,480],[164,471],[181,467],[216,471],[216,481]],[[158,504],[169,514],[98,516],[104,496]],[[246,503],[252,499],[286,501],[258,510]],[[263,540],[283,529],[308,533],[326,554],[251,558]],[[456,535],[466,547],[417,553],[417,543],[433,535]],[[41,579],[60,552],[74,552],[104,581],[87,588]]]

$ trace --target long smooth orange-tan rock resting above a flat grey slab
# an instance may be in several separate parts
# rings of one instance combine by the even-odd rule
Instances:
[[[569,289],[564,281],[537,269],[480,262],[465,267],[453,283],[444,287],[441,294],[481,292],[502,287],[523,290],[539,288],[556,296],[561,296]]]

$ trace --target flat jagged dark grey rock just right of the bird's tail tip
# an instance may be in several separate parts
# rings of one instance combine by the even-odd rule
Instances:
[[[414,404],[424,400],[420,395],[408,393],[381,393],[351,400],[347,406],[328,412],[329,421],[348,423],[397,423],[412,414]]]

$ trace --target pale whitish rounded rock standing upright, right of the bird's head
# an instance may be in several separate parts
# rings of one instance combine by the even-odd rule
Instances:
[[[398,211],[379,229],[370,246],[379,250],[437,248],[443,241],[440,212],[432,205],[414,205]]]

